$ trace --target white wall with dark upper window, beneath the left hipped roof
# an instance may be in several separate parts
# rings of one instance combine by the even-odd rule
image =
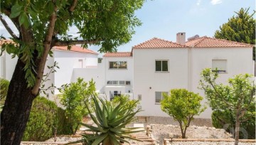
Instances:
[[[188,89],[188,50],[186,48],[134,49],[134,98],[142,95],[143,116],[169,116],[155,103],[156,91]],[[156,72],[156,60],[169,60],[169,72]],[[151,87],[151,88],[150,88]]]

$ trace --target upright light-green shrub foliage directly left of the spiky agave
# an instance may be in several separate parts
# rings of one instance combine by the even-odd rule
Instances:
[[[79,122],[82,117],[88,114],[85,103],[91,103],[90,97],[96,95],[95,82],[89,81],[86,83],[83,79],[78,78],[77,82],[64,85],[60,89],[60,103],[65,107],[65,114],[68,118],[68,127],[75,134],[78,130]]]

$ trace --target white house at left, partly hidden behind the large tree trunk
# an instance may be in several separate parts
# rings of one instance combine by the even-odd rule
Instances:
[[[13,43],[11,40],[1,40],[0,47],[4,43]],[[53,47],[53,57],[48,56],[46,62],[46,69],[44,74],[49,74],[48,81],[45,81],[44,87],[41,87],[41,91],[46,91],[46,94],[41,93],[42,96],[55,100],[54,95],[58,94],[59,91],[56,88],[60,88],[65,83],[72,81],[73,70],[78,68],[97,68],[97,52],[92,50],[83,49],[82,47],[72,46],[70,50],[68,47]],[[12,74],[16,66],[17,58],[11,58],[11,55],[3,52],[0,57],[0,75],[1,78],[11,80]],[[50,73],[48,67],[53,66],[54,62],[57,62],[58,67],[55,67],[56,72]],[[56,88],[51,87],[55,86]],[[48,88],[50,87],[50,88]],[[47,89],[48,88],[48,89]],[[46,90],[47,89],[47,90]]]

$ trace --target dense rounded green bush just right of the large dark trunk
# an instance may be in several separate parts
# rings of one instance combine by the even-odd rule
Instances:
[[[57,134],[71,134],[66,127],[65,110],[53,101],[38,96],[31,108],[23,141],[45,141]]]

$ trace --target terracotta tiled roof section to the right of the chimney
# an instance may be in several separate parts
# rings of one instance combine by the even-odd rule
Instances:
[[[198,37],[194,40],[189,40],[186,42],[188,47],[253,47],[242,42],[234,42],[230,40],[220,40],[213,37]]]

